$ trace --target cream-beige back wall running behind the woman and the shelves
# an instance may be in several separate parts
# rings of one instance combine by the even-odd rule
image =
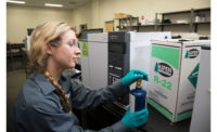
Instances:
[[[71,26],[87,24],[88,29],[104,28],[104,22],[114,19],[115,13],[127,13],[133,16],[145,15],[154,18],[155,13],[202,9],[210,6],[210,0],[90,0],[73,9],[59,10],[43,8],[7,6],[7,41],[22,42],[27,35],[26,28],[38,24],[61,19]]]

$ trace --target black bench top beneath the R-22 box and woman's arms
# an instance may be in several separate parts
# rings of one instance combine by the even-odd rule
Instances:
[[[189,132],[191,118],[173,123],[151,105],[148,105],[150,116],[148,122],[129,132]],[[76,110],[76,116],[84,129],[100,130],[122,120],[125,110],[115,104],[101,105],[97,108]]]

